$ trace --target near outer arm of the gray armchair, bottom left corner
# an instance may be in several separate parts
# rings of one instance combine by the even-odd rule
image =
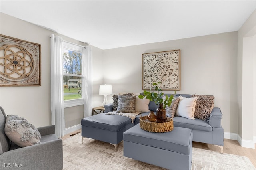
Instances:
[[[43,142],[32,146],[18,148],[4,152],[0,155],[1,169],[46,170],[63,168],[62,139]]]

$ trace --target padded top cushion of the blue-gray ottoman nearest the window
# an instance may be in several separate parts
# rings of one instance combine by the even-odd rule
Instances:
[[[83,118],[82,126],[106,129],[117,132],[128,124],[131,124],[131,119],[120,115],[105,115],[98,114]]]

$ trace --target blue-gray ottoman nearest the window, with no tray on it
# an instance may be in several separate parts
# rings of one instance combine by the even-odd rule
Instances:
[[[100,113],[81,120],[82,143],[84,137],[108,142],[117,147],[123,140],[123,133],[134,126],[132,119],[120,115]]]

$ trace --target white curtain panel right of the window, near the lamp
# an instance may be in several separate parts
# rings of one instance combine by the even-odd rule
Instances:
[[[92,115],[92,49],[89,46],[83,48],[83,99],[84,117]]]

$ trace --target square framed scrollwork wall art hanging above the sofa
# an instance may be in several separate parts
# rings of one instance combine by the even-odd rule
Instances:
[[[142,54],[142,89],[180,90],[180,50]]]

